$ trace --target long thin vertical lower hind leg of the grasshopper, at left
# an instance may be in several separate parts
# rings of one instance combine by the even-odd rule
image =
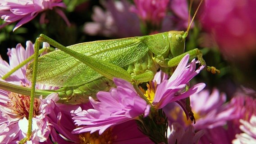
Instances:
[[[30,107],[29,107],[29,116],[28,116],[28,129],[27,129],[27,136],[23,138],[19,144],[24,144],[27,140],[30,140],[32,136],[32,118],[33,118],[33,108],[34,108],[34,96],[36,90],[36,80],[37,80],[37,62],[38,62],[38,55],[39,55],[39,40],[36,39],[35,42],[35,53],[34,53],[34,63],[33,63],[33,73],[32,73],[32,85],[31,85],[31,95],[30,95]]]

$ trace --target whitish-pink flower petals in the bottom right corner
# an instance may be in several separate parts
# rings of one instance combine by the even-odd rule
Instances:
[[[256,144],[256,116],[251,116],[250,121],[240,120],[240,129],[244,132],[237,134],[232,141],[233,144]]]

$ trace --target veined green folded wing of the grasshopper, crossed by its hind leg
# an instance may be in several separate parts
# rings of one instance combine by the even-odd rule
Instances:
[[[142,58],[148,51],[147,46],[138,38],[99,40],[70,45],[67,48],[125,67]],[[32,63],[27,67],[29,80],[32,79]],[[38,59],[37,83],[70,87],[83,85],[100,77],[101,74],[60,50],[45,54]]]

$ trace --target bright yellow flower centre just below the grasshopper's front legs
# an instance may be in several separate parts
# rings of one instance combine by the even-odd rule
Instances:
[[[149,84],[148,83],[146,84],[146,87],[147,87],[146,91],[144,89],[142,89],[142,87],[140,87],[140,90],[142,90],[146,99],[148,99],[148,101],[150,103],[152,103],[155,98],[156,81],[154,82],[154,85],[153,85],[152,81],[150,81]]]

